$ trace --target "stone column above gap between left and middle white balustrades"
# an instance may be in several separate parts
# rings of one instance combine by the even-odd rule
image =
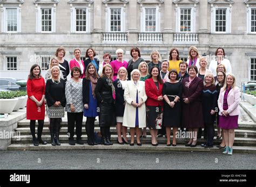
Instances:
[[[138,8],[137,0],[130,0],[129,2],[129,32],[138,32],[137,18]]]

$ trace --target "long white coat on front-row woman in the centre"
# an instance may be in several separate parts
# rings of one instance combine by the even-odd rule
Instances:
[[[146,127],[146,105],[147,100],[145,92],[145,82],[138,81],[137,85],[133,81],[128,81],[124,90],[124,100],[126,102],[124,109],[123,126],[135,127],[136,108],[132,106],[132,102],[136,103],[136,95],[138,90],[138,100],[143,101],[142,106],[138,108],[139,128]]]

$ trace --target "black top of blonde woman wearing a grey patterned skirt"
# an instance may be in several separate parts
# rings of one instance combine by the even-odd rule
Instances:
[[[63,107],[66,106],[65,97],[65,81],[60,78],[59,84],[47,80],[45,86],[45,98],[48,106],[52,106],[56,101],[59,101]]]

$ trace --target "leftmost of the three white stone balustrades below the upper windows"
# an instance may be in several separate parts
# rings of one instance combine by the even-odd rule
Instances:
[[[103,33],[104,43],[126,43],[127,33],[125,32],[105,32]]]

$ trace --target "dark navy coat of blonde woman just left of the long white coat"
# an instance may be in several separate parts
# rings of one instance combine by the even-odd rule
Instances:
[[[116,110],[116,116],[123,117],[124,116],[124,108],[125,108],[125,100],[124,100],[124,89],[122,87],[122,83],[117,78],[116,81],[113,82],[114,88],[116,89],[116,101],[114,103],[114,109]]]

